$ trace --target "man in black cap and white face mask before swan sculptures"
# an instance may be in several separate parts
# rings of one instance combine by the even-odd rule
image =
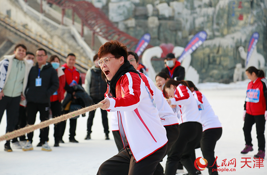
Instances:
[[[166,67],[162,69],[161,72],[166,72],[171,77],[171,79],[174,79],[176,81],[184,80],[184,67],[182,67],[181,63],[176,60],[173,53],[168,53],[166,58],[164,59],[164,62]]]

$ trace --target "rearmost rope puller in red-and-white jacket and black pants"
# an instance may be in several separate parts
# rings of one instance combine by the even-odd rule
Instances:
[[[192,81],[186,81],[192,94],[200,103],[203,104],[203,110],[200,111],[201,122],[203,127],[202,139],[200,141],[200,148],[203,154],[204,159],[208,162],[214,162],[214,149],[216,142],[220,139],[222,135],[222,126],[217,115],[215,115],[211,105],[209,104],[207,98],[198,91],[196,86]],[[217,175],[217,171],[212,169],[217,169],[214,164],[212,167],[208,166],[208,173],[210,175]]]

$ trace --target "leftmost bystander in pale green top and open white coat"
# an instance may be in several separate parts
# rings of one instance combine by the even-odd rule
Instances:
[[[0,61],[0,122],[6,110],[6,132],[15,130],[19,120],[20,101],[25,102],[24,90],[32,66],[23,60],[26,50],[23,44],[18,44],[15,46],[13,55],[5,55]],[[13,144],[16,147],[20,146],[16,139],[12,140]],[[4,150],[12,151],[10,140],[6,141]]]

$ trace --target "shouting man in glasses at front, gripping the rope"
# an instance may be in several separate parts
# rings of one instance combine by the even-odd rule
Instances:
[[[118,111],[124,150],[106,160],[97,174],[152,175],[167,149],[166,130],[140,74],[127,60],[127,47],[111,41],[98,61],[108,82],[103,110]]]

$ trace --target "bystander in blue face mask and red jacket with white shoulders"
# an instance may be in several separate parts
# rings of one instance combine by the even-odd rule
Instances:
[[[49,58],[49,62],[51,63],[52,67],[56,69],[59,77],[59,89],[50,97],[51,102],[51,112],[53,115],[53,118],[61,115],[61,101],[64,99],[64,87],[66,83],[66,76],[62,69],[59,68],[60,65],[60,59],[56,55],[52,55]],[[55,145],[54,147],[59,146],[59,140],[61,139],[61,127],[63,123],[60,122],[58,124],[55,124]]]

